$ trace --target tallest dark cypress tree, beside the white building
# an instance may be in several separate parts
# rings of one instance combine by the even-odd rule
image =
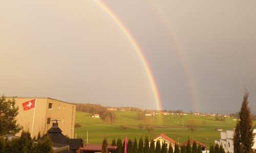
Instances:
[[[253,120],[250,108],[248,107],[249,92],[245,89],[242,107],[239,112],[239,118],[234,131],[233,145],[234,153],[252,152],[253,146]]]

